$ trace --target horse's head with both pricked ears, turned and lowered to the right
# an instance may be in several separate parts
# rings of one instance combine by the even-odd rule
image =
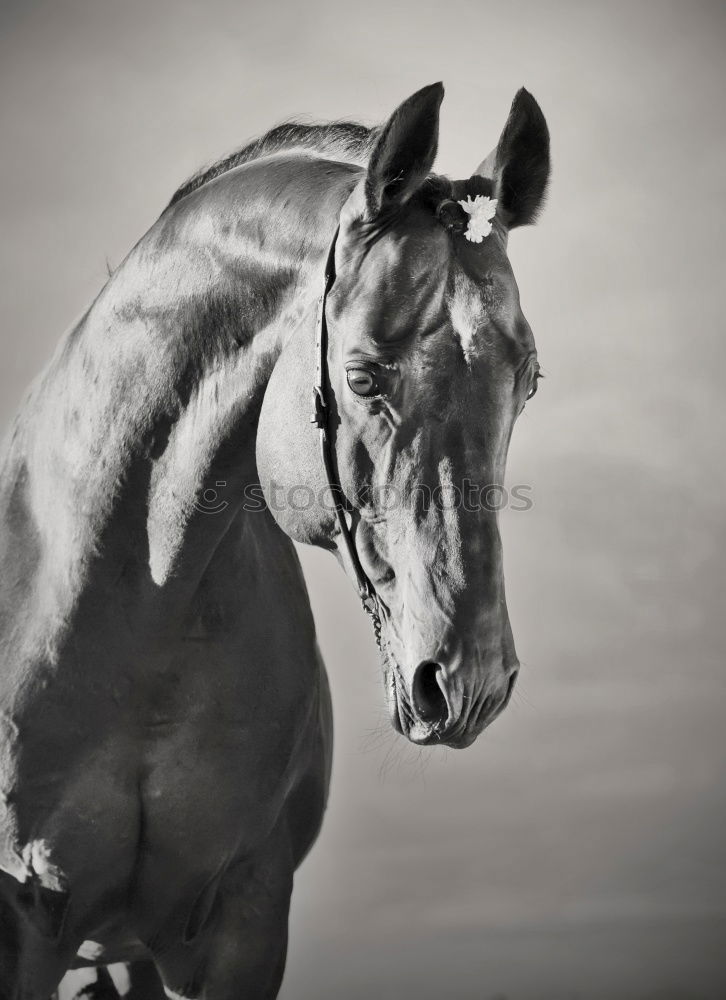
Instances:
[[[380,610],[393,725],[417,744],[465,747],[505,707],[519,667],[489,498],[537,385],[507,237],[540,208],[549,137],[520,90],[472,177],[431,175],[442,97],[436,84],[405,101],[352,173],[325,360],[336,485]],[[296,333],[277,362],[258,470],[282,528],[335,549],[355,576],[308,424],[312,341]],[[289,502],[273,502],[273,483]],[[316,502],[294,502],[300,485]]]

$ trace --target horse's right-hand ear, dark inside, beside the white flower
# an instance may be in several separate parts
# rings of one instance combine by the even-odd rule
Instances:
[[[496,148],[475,172],[493,181],[497,208],[509,229],[535,221],[550,176],[550,134],[539,104],[524,87],[512,102]]]

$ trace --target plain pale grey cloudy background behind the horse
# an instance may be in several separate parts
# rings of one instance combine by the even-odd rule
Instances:
[[[467,176],[515,90],[554,176],[511,257],[546,381],[503,518],[524,669],[464,753],[389,732],[373,641],[303,553],[327,822],[285,1000],[726,994],[722,4],[58,0],[0,8],[0,416],[185,175],[291,115],[447,85]]]

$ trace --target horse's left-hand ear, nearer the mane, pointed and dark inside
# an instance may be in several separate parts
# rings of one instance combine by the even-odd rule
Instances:
[[[368,163],[368,217],[402,205],[431,171],[439,141],[444,85],[432,83],[399,105],[383,126]]]

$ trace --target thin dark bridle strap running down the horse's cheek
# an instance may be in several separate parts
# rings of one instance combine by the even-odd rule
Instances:
[[[373,631],[376,636],[376,645],[381,649],[381,615],[380,602],[376,594],[375,587],[368,579],[366,571],[361,565],[358,552],[356,551],[353,535],[345,517],[346,510],[352,510],[350,503],[343,493],[338,478],[338,470],[335,454],[330,438],[330,405],[328,401],[328,388],[330,378],[328,372],[328,323],[325,317],[325,303],[328,292],[335,281],[335,245],[338,240],[338,226],[330,242],[328,257],[325,263],[325,276],[323,279],[323,290],[318,299],[317,316],[315,319],[315,382],[313,383],[313,414],[310,422],[320,431],[320,454],[323,459],[325,477],[328,481],[328,488],[333,497],[335,516],[340,529],[340,536],[343,540],[343,547],[346,551],[348,562],[350,563],[353,575],[358,587],[358,596],[363,610],[373,622]]]

